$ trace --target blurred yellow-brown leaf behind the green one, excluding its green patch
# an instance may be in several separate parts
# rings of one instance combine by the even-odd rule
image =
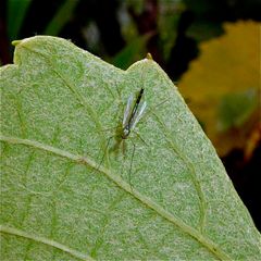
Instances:
[[[200,45],[198,60],[178,84],[220,156],[235,147],[243,148],[258,117],[258,113],[252,113],[241,126],[222,130],[219,127],[222,99],[254,89],[257,101],[260,88],[260,24],[238,22],[226,23],[224,27],[225,35]]]

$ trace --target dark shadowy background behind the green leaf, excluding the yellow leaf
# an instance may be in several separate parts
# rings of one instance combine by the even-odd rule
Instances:
[[[0,0],[0,12],[2,65],[12,63],[12,40],[34,35],[53,35],[71,39],[76,46],[122,69],[127,69],[150,52],[178,85],[189,71],[191,61],[200,57],[200,45],[223,36],[225,23],[261,21],[261,1]],[[260,88],[260,85],[256,87]],[[220,157],[261,231],[260,91],[257,96],[259,105],[252,113],[254,124],[247,126],[250,130],[245,146],[232,146]],[[189,105],[189,100],[187,102]],[[200,115],[196,116],[202,127],[208,124],[200,121]],[[246,124],[237,128],[238,133],[246,128]]]

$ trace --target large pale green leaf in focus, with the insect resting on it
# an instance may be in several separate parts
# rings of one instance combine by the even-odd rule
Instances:
[[[249,213],[156,62],[121,71],[64,39],[14,44],[0,75],[1,260],[260,259]],[[141,87],[147,114],[113,153]]]

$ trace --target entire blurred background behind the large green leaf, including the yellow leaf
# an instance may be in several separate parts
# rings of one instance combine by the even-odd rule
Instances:
[[[127,69],[150,52],[177,85],[261,231],[260,0],[0,0],[12,40],[71,39]]]

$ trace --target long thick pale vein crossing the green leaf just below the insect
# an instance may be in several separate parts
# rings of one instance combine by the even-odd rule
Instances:
[[[172,213],[164,210],[161,206],[159,206],[157,202],[152,201],[150,198],[146,197],[145,195],[140,194],[136,189],[134,189],[129,184],[127,184],[124,179],[121,178],[121,175],[116,175],[115,173],[112,173],[108,169],[100,166],[98,163],[96,163],[94,160],[91,160],[88,157],[84,157],[80,154],[73,154],[69,151],[45,145],[35,140],[29,139],[21,139],[16,137],[10,137],[0,135],[0,140],[9,144],[14,145],[24,145],[32,147],[34,149],[44,150],[46,152],[66,158],[70,161],[76,162],[78,164],[88,165],[89,167],[96,170],[99,173],[102,173],[107,175],[114,184],[116,184],[121,189],[124,189],[126,192],[135,197],[137,200],[139,200],[142,204],[147,206],[148,208],[156,211],[160,216],[167,220],[175,226],[177,226],[181,231],[199,241],[204,248],[207,248],[212,254],[214,254],[220,260],[232,260],[231,257],[228,257],[225,252],[223,252],[216,244],[214,244],[209,238],[204,237],[202,234],[200,234],[197,229],[194,227],[187,225],[178,217],[175,217]]]

